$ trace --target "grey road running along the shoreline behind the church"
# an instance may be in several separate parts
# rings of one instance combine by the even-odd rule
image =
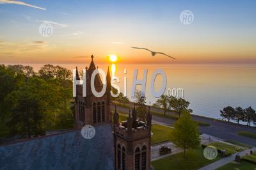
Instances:
[[[125,107],[116,107],[120,112],[129,112],[128,108]],[[115,109],[115,105],[112,105],[112,109]],[[152,107],[151,111],[154,112],[163,112],[162,109],[157,109]],[[175,114],[173,112],[167,112],[166,114]],[[248,132],[256,132],[255,127],[248,127],[245,125],[237,125],[236,123],[228,123],[223,121],[214,121],[212,118],[205,118],[201,116],[192,115],[193,120],[203,121],[205,123],[209,123],[210,126],[207,127],[199,127],[200,132],[202,134],[208,134],[220,139],[225,139],[229,141],[236,141],[237,143],[248,144],[250,146],[256,146],[256,139],[252,139],[250,137],[244,137],[241,135],[237,135],[237,131],[248,131]],[[160,116],[152,115],[152,120],[159,121],[161,123],[165,123],[168,125],[172,125],[175,120],[169,118],[163,118]]]

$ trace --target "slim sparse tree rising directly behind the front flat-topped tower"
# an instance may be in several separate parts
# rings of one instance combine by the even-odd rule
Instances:
[[[137,105],[136,111],[137,111],[138,119],[141,121],[145,121],[148,110],[146,105],[146,97],[144,93],[142,93],[141,91],[136,91],[135,102]]]

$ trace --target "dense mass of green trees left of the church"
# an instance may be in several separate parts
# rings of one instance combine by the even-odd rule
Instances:
[[[72,72],[44,65],[0,65],[0,137],[36,137],[45,130],[72,128]]]

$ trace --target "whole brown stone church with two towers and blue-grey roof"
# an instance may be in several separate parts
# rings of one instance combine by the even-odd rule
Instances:
[[[86,97],[83,86],[77,85],[74,129],[59,131],[32,139],[0,146],[0,169],[84,169],[84,170],[147,170],[150,167],[151,114],[147,121],[138,121],[136,107],[126,121],[119,122],[115,110],[111,113],[111,77],[106,75],[106,93],[93,96],[90,81],[97,69],[93,61],[86,68]],[[80,79],[78,70],[77,80]],[[99,74],[95,89],[102,89]],[[84,139],[81,128],[93,125],[95,135]]]

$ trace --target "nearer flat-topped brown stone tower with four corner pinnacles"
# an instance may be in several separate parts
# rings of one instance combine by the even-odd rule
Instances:
[[[118,112],[114,113],[113,135],[116,170],[150,169],[151,120],[148,107],[147,121],[138,121],[136,109],[129,111],[126,121],[118,123]]]

